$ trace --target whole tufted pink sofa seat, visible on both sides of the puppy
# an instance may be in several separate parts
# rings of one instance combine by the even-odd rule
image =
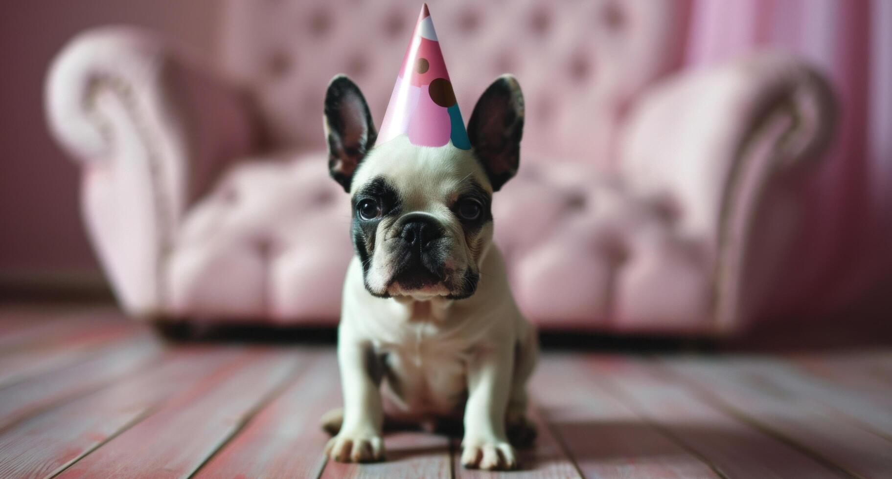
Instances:
[[[677,235],[659,199],[593,166],[530,162],[495,194],[493,216],[517,302],[542,326],[685,331],[709,317],[702,245]],[[169,256],[171,310],[333,323],[350,218],[323,153],[242,162],[186,217]]]

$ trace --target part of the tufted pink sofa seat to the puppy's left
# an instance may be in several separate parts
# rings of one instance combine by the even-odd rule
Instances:
[[[240,162],[187,215],[169,256],[178,315],[330,323],[351,256],[350,204],[324,155]]]

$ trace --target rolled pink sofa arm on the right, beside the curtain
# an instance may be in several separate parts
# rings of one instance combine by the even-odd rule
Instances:
[[[624,177],[663,197],[714,258],[718,331],[751,321],[798,238],[800,188],[830,143],[830,86],[804,61],[758,53],[670,78],[632,111]]]

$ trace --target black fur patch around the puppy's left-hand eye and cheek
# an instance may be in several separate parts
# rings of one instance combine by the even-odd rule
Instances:
[[[357,207],[359,207],[359,203],[363,199],[376,200],[381,205],[382,215],[375,219],[363,220],[357,211]],[[359,256],[359,262],[362,264],[362,278],[366,284],[366,289],[372,296],[390,297],[386,293],[373,291],[368,287],[368,269],[372,265],[372,255],[375,252],[378,224],[382,221],[391,221],[400,215],[402,204],[400,195],[383,176],[376,176],[356,191],[351,202],[353,211],[351,222],[353,249]]]

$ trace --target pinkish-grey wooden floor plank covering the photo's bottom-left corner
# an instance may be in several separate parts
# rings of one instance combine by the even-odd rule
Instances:
[[[235,348],[181,349],[151,369],[22,421],[0,434],[0,476],[54,475],[145,418],[171,395],[244,358]]]

